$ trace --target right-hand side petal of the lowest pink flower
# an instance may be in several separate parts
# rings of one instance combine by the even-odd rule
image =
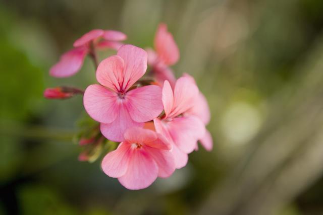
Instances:
[[[173,174],[175,171],[175,159],[170,151],[150,147],[145,147],[145,150],[158,166],[158,177],[167,178]]]

